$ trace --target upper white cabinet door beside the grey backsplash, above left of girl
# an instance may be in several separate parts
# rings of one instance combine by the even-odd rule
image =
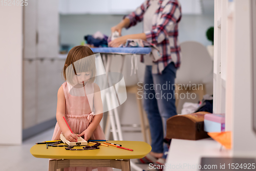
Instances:
[[[58,56],[58,0],[37,0],[37,57]]]

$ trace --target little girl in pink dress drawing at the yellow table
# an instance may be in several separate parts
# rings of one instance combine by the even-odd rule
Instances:
[[[92,55],[92,56],[90,56]],[[63,67],[64,82],[58,90],[57,123],[52,140],[60,140],[60,134],[70,142],[77,141],[77,136],[89,139],[105,139],[101,126],[103,107],[99,86],[94,83],[96,66],[94,53],[89,47],[76,46],[69,51]],[[72,132],[69,130],[66,118]],[[92,170],[93,168],[76,167],[65,170]],[[110,168],[98,168],[109,170]],[[112,170],[112,169],[110,169]]]

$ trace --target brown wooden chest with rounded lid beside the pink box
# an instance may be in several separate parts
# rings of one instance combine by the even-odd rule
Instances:
[[[204,115],[208,112],[197,112],[170,117],[166,122],[166,138],[199,140],[208,138],[204,131]]]

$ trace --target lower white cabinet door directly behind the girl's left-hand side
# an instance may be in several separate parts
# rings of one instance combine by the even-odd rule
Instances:
[[[37,60],[37,124],[56,117],[57,92],[65,60]]]

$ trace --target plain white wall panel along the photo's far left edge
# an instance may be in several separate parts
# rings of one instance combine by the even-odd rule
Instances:
[[[0,144],[21,144],[22,6],[0,5],[0,16]]]

